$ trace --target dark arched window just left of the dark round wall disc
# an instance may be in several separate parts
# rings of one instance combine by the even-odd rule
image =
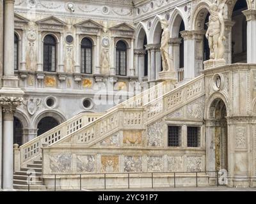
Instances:
[[[44,38],[44,71],[56,71],[56,40],[51,35]]]

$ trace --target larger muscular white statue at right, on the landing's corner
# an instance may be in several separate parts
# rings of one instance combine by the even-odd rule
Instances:
[[[222,9],[218,8],[218,4],[210,5],[209,27],[205,34],[209,41],[210,59],[223,59],[225,53],[225,23],[223,20]]]

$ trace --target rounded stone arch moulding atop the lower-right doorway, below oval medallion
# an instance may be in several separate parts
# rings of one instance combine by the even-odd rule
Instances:
[[[214,108],[214,101],[216,99],[221,99],[223,101],[223,103],[225,104],[226,108],[227,108],[227,116],[231,115],[231,110],[230,110],[230,106],[231,103],[228,100],[228,96],[223,93],[223,92],[214,92],[211,96],[209,96],[209,98],[205,101],[205,119],[212,119],[214,112],[213,108]]]

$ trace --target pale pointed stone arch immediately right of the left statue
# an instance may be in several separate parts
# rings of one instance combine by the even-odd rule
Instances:
[[[183,20],[184,25],[185,25],[185,31],[188,29],[188,22],[185,20],[184,15],[182,11],[179,8],[175,8],[173,10],[172,15],[170,17],[170,28],[171,28],[171,38],[179,38],[179,29],[180,29],[180,24]]]

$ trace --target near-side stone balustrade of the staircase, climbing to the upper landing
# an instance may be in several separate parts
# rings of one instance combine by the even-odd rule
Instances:
[[[148,97],[148,103],[140,103],[143,98],[141,94],[139,94],[132,98],[134,101],[137,101],[136,97],[138,97],[139,103],[132,103],[131,99],[129,99],[125,101],[126,103],[122,103],[122,106],[118,105],[115,106],[115,108],[111,108],[111,110],[105,115],[102,115],[102,117],[99,117],[99,119],[87,124],[75,133],[65,136],[65,138],[62,138],[49,147],[61,146],[63,143],[65,143],[65,145],[71,145],[70,142],[72,142],[72,145],[90,145],[99,138],[102,139],[103,137],[105,138],[115,133],[118,129],[129,127],[143,128],[144,124],[148,121],[156,119],[159,115],[173,110],[177,105],[183,102],[188,103],[190,98],[202,94],[202,87],[204,87],[202,83],[204,83],[204,76],[197,77],[193,81],[166,94],[153,94],[152,99]],[[156,91],[157,89],[153,90]],[[150,94],[152,93],[150,92]],[[160,100],[163,100],[163,103],[159,103]],[[130,105],[131,107],[129,107]]]

